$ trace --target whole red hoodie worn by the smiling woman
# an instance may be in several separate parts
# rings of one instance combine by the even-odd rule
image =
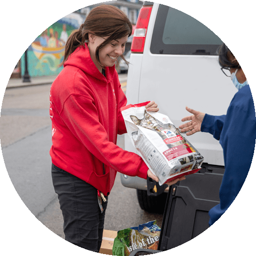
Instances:
[[[104,77],[90,58],[87,44],[64,63],[52,83],[52,163],[108,195],[116,172],[147,179],[142,158],[116,145],[126,133],[120,108],[127,103],[115,66]]]

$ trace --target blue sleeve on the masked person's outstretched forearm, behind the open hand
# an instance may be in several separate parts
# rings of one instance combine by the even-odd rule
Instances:
[[[226,115],[208,115],[205,114],[201,125],[202,132],[209,132],[219,141],[220,134],[225,122]]]

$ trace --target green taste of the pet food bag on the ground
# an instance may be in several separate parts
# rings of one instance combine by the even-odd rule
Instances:
[[[133,250],[140,248],[157,250],[160,232],[156,220],[119,230],[114,240],[112,255],[128,256]]]

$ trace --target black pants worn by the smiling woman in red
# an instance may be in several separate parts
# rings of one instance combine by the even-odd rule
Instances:
[[[97,189],[93,186],[54,165],[51,176],[64,218],[65,240],[99,252],[107,202],[102,201],[101,213]]]

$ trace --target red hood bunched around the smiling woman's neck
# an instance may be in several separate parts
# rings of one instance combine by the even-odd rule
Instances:
[[[77,47],[77,49],[70,54],[68,59],[64,63],[65,66],[74,66],[81,69],[87,75],[91,77],[95,77],[98,80],[101,80],[104,83],[109,83],[113,80],[115,74],[115,65],[112,67],[105,67],[105,75],[104,77],[99,69],[96,67],[94,62],[90,57],[90,51],[87,43],[83,46]]]

